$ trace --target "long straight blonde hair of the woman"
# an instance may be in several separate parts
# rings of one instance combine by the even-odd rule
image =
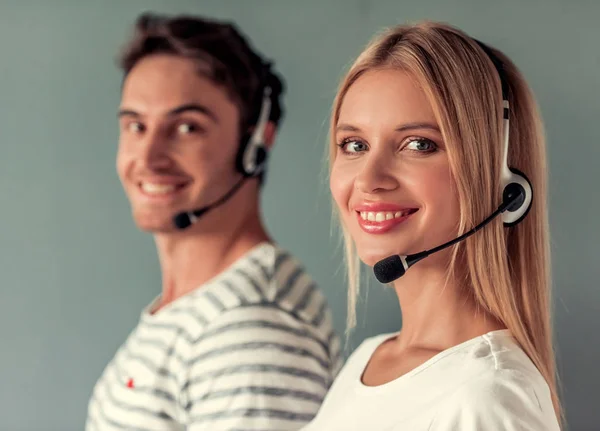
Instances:
[[[545,378],[559,420],[550,316],[550,250],[546,150],[536,101],[523,76],[501,52],[510,102],[509,166],[525,172],[534,198],[525,219],[505,228],[498,218],[454,246],[449,277],[478,307],[511,331]],[[398,69],[421,85],[436,115],[460,205],[459,234],[500,204],[502,91],[498,72],[475,40],[459,29],[430,21],[403,25],[377,36],[342,79],[330,124],[329,166],[335,160],[335,127],[350,86],[374,69]],[[348,327],[356,324],[359,263],[342,226],[348,267]]]

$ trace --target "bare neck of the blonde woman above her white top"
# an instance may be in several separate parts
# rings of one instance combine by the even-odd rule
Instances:
[[[411,267],[394,283],[402,312],[402,331],[397,338],[401,348],[441,351],[504,328],[478,306],[464,285],[447,277],[446,265],[429,259]]]

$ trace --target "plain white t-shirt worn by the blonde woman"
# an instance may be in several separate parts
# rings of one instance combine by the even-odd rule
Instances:
[[[375,349],[349,358],[316,418],[303,431],[555,431],[545,380],[507,330],[447,349],[379,386],[361,376]]]

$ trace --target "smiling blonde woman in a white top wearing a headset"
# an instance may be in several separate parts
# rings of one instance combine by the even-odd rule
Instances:
[[[363,342],[305,430],[560,429],[545,142],[533,96],[513,63],[445,24],[394,28],[342,81],[331,140],[350,324],[357,256],[375,266],[432,249],[501,203],[504,212],[391,275],[402,330]],[[506,195],[505,186],[520,179],[508,181],[505,154],[530,181],[517,186],[518,196]]]

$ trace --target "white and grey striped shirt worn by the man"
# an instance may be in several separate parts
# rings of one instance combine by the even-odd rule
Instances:
[[[154,304],[97,382],[87,431],[297,430],[341,367],[325,297],[273,244]]]

